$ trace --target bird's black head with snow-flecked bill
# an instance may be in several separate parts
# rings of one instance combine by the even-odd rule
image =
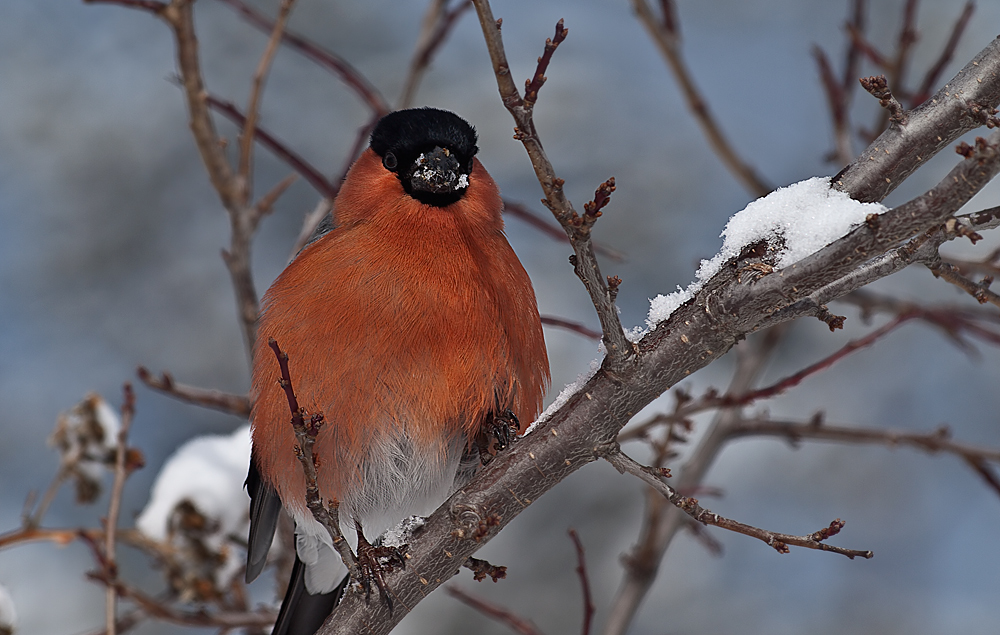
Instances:
[[[436,108],[386,115],[372,131],[371,148],[410,196],[439,207],[465,195],[472,157],[479,150],[472,126]]]

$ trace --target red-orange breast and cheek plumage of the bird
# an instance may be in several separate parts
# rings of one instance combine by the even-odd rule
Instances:
[[[548,360],[534,292],[478,160],[468,181],[457,202],[427,205],[366,150],[335,202],[336,229],[264,295],[253,451],[290,511],[305,512],[305,481],[268,338],[288,353],[300,405],[325,415],[324,499],[350,498],[382,439],[402,434],[443,469],[490,413],[510,408],[528,423],[540,411]]]

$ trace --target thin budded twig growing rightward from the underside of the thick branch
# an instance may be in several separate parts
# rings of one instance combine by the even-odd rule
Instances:
[[[611,463],[611,465],[613,465],[619,472],[623,474],[628,473],[639,478],[641,481],[666,497],[666,499],[673,503],[674,506],[679,508],[694,520],[705,525],[714,525],[745,536],[750,536],[751,538],[757,538],[774,548],[778,553],[788,553],[788,548],[792,546],[839,553],[843,556],[847,556],[851,560],[857,557],[869,559],[874,555],[869,550],[845,549],[843,547],[828,545],[823,542],[829,535],[836,533],[835,531],[831,531],[834,525],[842,526],[842,522],[839,519],[831,523],[829,529],[820,530],[805,536],[782,534],[767,529],[761,529],[759,527],[753,527],[711,512],[699,505],[697,499],[681,496],[676,490],[674,490],[674,488],[663,482],[663,480],[657,475],[656,470],[636,463],[633,459],[625,455],[621,449],[617,447],[617,444],[609,447],[605,451],[603,458]]]

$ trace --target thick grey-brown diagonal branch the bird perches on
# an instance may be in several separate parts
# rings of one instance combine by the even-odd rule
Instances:
[[[477,0],[477,9],[483,4]],[[491,57],[501,94],[507,95],[503,86],[506,81],[512,85],[512,80],[505,59],[496,54],[496,24],[485,11],[480,21],[487,40],[492,42]],[[990,70],[1000,69],[1000,42],[991,43],[976,57],[976,63],[978,66],[963,70],[949,84],[949,90],[958,86],[978,96],[1000,95],[1000,77]],[[975,69],[985,70],[979,73]],[[513,94],[516,96],[516,90]],[[952,98],[947,108],[918,109],[911,113],[907,129],[914,130],[916,138],[926,140],[921,135],[930,134],[928,130],[949,131],[967,125],[965,111],[955,106]],[[916,125],[918,112],[921,121]],[[915,139],[912,135],[903,138],[906,143]],[[933,152],[940,147],[943,144],[935,142],[928,149]],[[870,200],[884,195],[887,189],[873,184],[886,178],[890,182],[903,178],[931,154],[911,153],[893,155],[892,161],[868,161],[869,156],[878,155],[874,148],[862,155],[872,167],[855,165],[853,171],[841,177],[841,187],[855,198]],[[356,633],[366,628],[375,635],[387,633],[409,607],[454,575],[457,563],[464,562],[555,484],[596,460],[596,449],[613,443],[629,419],[670,386],[725,354],[747,334],[775,323],[773,316],[778,312],[808,299],[810,294],[832,288],[903,240],[943,223],[989,180],[996,167],[989,154],[984,148],[977,155],[982,163],[975,157],[962,161],[948,180],[927,195],[884,214],[874,227],[864,225],[796,265],[744,283],[736,280],[734,268],[724,267],[692,300],[638,342],[634,363],[617,367],[614,372],[607,365],[599,369],[560,400],[561,405],[538,422],[532,434],[498,455],[427,519],[422,535],[410,544],[412,558],[406,570],[387,576],[397,599],[392,614],[381,603],[365,605],[363,598],[350,595],[320,633]],[[879,169],[885,176],[879,174]],[[796,317],[791,312],[782,316],[783,320]]]

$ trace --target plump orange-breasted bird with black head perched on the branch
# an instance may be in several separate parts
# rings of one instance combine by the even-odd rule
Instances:
[[[296,559],[274,635],[314,633],[347,579],[338,586],[346,568],[306,507],[270,341],[288,356],[299,404],[324,417],[319,494],[356,528],[359,555],[366,534],[429,514],[541,410],[550,375],[537,301],[477,142],[449,111],[384,116],[331,217],[262,298],[246,579],[264,568],[286,510]]]

